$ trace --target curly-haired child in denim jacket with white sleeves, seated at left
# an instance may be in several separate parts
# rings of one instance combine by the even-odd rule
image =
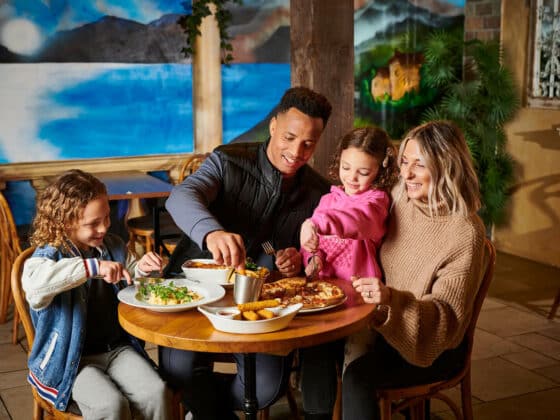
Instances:
[[[117,292],[131,272],[161,268],[148,253],[138,262],[107,233],[105,185],[71,170],[37,201],[23,288],[35,326],[28,381],[58,410],[74,400],[85,419],[169,418],[164,382],[141,344],[120,327]]]

